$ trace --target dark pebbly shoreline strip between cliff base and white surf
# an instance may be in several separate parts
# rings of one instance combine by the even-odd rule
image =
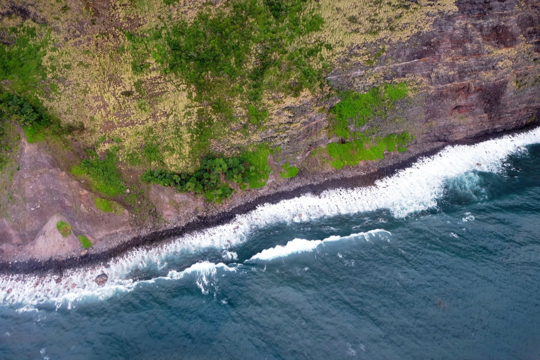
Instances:
[[[419,148],[415,148],[415,151],[409,153],[408,157],[401,156],[399,160],[390,157],[381,161],[373,163],[371,171],[363,174],[358,167],[351,168],[351,171],[345,171],[341,173],[334,173],[330,179],[323,179],[322,181],[315,180],[314,182],[307,182],[307,184],[301,184],[305,177],[298,179],[299,181],[289,183],[289,189],[276,190],[271,193],[254,195],[253,198],[248,199],[245,203],[240,203],[232,208],[226,208],[219,210],[214,214],[208,214],[205,216],[198,216],[197,218],[188,221],[184,225],[170,226],[161,228],[158,230],[150,230],[146,234],[141,234],[131,237],[131,239],[119,243],[109,249],[102,250],[97,253],[87,254],[85,256],[67,257],[65,259],[49,259],[46,261],[40,260],[28,260],[28,261],[0,261],[0,273],[3,274],[45,274],[54,273],[62,274],[66,269],[90,267],[95,264],[103,264],[119,257],[133,249],[144,249],[150,247],[156,247],[160,243],[166,243],[173,239],[197,232],[200,230],[208,229],[214,226],[219,226],[227,223],[240,214],[245,214],[251,210],[257,208],[265,203],[278,203],[282,200],[289,200],[305,194],[320,195],[322,192],[336,189],[336,188],[354,188],[365,187],[375,183],[376,180],[386,178],[395,174],[401,169],[410,167],[417,160],[435,155],[443,148],[456,145],[474,145],[482,141],[502,138],[506,135],[518,134],[532,130],[538,127],[538,124],[529,124],[520,128],[516,128],[509,131],[488,133],[483,135],[477,135],[469,139],[463,139],[453,142],[428,142],[424,144],[417,144]],[[404,153],[407,155],[407,153]],[[300,183],[300,184],[299,184]],[[291,188],[292,187],[292,188]]]

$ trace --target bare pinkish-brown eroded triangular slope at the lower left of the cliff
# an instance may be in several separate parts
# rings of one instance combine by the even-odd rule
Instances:
[[[0,220],[0,249],[4,255],[21,254],[39,260],[82,250],[77,235],[94,242],[131,229],[129,213],[104,213],[95,206],[95,196],[80,182],[61,171],[39,144],[21,140],[20,171],[10,191],[14,204],[9,218]],[[72,234],[62,237],[56,223],[63,220]]]

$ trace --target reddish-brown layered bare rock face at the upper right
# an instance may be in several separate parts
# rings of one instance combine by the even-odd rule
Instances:
[[[458,11],[438,18],[432,31],[388,46],[373,66],[357,64],[329,80],[358,91],[373,86],[374,78],[416,82],[420,91],[402,117],[421,142],[456,141],[538,122],[538,4],[462,0],[456,6]],[[399,124],[377,126],[401,130]]]

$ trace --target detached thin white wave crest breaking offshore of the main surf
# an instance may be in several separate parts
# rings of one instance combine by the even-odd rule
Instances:
[[[278,257],[285,257],[291,254],[300,254],[303,252],[312,252],[315,250],[320,244],[324,244],[326,242],[330,241],[338,241],[343,239],[351,239],[353,237],[363,237],[366,241],[369,241],[369,237],[373,236],[377,233],[388,233],[390,232],[383,230],[383,229],[375,229],[370,230],[366,233],[357,233],[357,234],[350,234],[348,236],[329,236],[326,239],[323,240],[306,240],[306,239],[293,239],[284,246],[278,245],[273,248],[264,249],[260,253],[257,253],[251,257],[251,259],[246,260],[246,262],[253,261],[253,260],[265,260],[270,261],[274,259],[278,259]],[[390,234],[392,235],[392,234]]]

